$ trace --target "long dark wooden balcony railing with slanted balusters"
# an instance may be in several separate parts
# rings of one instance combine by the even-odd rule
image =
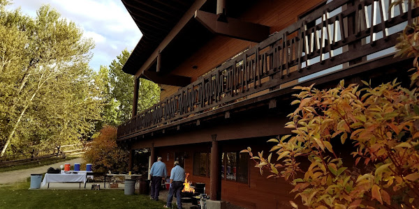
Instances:
[[[411,1],[389,8],[391,3],[332,1],[119,125],[118,139],[318,76],[323,70],[360,64],[384,49],[394,51],[399,31],[413,23],[419,9]]]

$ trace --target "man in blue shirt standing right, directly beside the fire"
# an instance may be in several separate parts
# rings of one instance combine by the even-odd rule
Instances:
[[[173,194],[176,193],[177,208],[182,208],[182,196],[180,192],[184,187],[185,170],[179,166],[179,162],[175,161],[175,167],[170,171],[170,188],[168,195],[168,203],[163,208],[172,208]]]

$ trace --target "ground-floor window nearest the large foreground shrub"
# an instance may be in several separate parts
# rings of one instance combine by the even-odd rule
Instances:
[[[249,155],[246,153],[222,153],[221,154],[221,178],[240,183],[248,182]]]

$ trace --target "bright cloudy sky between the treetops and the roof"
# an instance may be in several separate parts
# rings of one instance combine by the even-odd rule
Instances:
[[[62,17],[78,24],[84,36],[94,39],[96,47],[89,63],[94,70],[108,66],[123,49],[131,52],[142,36],[121,0],[14,0],[8,8],[20,7],[22,13],[36,17],[43,4],[50,4]]]

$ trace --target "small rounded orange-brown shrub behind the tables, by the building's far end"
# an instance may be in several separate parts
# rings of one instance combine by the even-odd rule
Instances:
[[[105,126],[87,147],[84,162],[91,163],[92,169],[98,172],[126,171],[128,151],[117,146],[117,129]]]

